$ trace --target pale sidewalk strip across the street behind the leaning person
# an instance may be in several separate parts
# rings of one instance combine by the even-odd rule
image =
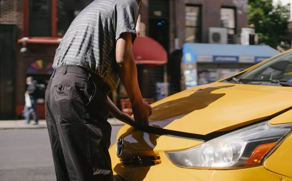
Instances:
[[[123,122],[115,119],[109,118],[107,120],[112,126],[117,125],[124,125]],[[39,120],[38,125],[33,125],[34,121],[32,120],[30,124],[26,124],[25,120],[0,120],[0,130],[1,129],[39,129],[39,128],[46,128],[46,120]]]

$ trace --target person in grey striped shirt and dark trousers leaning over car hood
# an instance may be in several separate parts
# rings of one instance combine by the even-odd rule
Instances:
[[[55,55],[46,90],[46,121],[57,180],[113,180],[112,114],[133,121],[110,101],[121,79],[135,122],[148,126],[132,55],[141,0],[95,0],[73,20]]]

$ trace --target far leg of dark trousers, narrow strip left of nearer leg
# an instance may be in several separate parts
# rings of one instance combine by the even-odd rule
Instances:
[[[69,180],[69,176],[67,173],[62,145],[60,143],[60,137],[58,134],[56,121],[54,119],[53,113],[50,108],[50,89],[51,89],[52,79],[53,77],[51,77],[51,79],[49,80],[48,87],[46,89],[46,95],[45,95],[46,123],[47,123],[49,138],[51,142],[52,155],[53,155],[57,181],[67,181]]]

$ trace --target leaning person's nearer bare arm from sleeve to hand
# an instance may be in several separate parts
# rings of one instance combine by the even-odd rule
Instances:
[[[135,122],[141,126],[148,126],[148,117],[152,108],[142,99],[138,85],[137,67],[132,54],[132,34],[123,33],[117,40],[116,59],[119,66],[119,76],[132,103]]]

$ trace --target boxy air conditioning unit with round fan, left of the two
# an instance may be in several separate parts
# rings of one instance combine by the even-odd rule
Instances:
[[[227,28],[209,28],[209,43],[227,44],[228,30]]]

